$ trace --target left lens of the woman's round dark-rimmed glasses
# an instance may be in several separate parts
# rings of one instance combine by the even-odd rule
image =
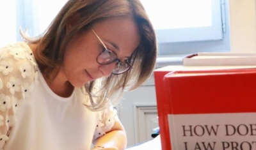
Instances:
[[[99,64],[110,64],[114,61],[116,61],[116,54],[108,49],[105,49],[104,52],[100,53],[97,57]]]

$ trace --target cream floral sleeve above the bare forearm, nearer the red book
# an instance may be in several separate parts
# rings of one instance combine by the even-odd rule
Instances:
[[[100,111],[99,121],[96,126],[93,141],[99,137],[102,137],[102,135],[111,130],[117,119],[118,117],[116,116],[116,110],[113,108],[113,106]]]

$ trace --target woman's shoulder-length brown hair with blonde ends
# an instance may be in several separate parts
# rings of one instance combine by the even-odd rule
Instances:
[[[79,20],[66,33],[67,24],[79,13]],[[22,34],[28,43],[36,43],[34,51],[36,62],[41,71],[49,79],[54,79],[63,63],[65,47],[79,31],[88,29],[95,22],[109,17],[131,16],[138,27],[140,44],[131,56],[132,70],[121,75],[110,75],[84,85],[90,96],[92,105],[86,105],[91,110],[101,110],[109,102],[117,102],[122,93],[140,86],[152,73],[157,57],[156,35],[147,13],[139,0],[69,0],[58,13],[44,34],[37,38],[28,38]],[[100,83],[100,95],[92,93],[95,83]],[[97,101],[93,101],[97,98]]]

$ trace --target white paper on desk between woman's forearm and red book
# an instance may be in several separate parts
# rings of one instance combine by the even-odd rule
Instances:
[[[141,149],[154,149],[154,150],[161,150],[161,140],[160,135],[155,137],[152,140],[149,140],[148,142],[145,142],[143,144],[140,144],[138,146],[130,147],[126,150],[141,150]]]

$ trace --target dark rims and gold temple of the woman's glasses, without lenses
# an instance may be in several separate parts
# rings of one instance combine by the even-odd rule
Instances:
[[[92,29],[92,27],[90,27],[90,29]],[[100,37],[98,36],[98,34],[95,33],[95,31],[94,31],[93,29],[92,29],[92,31],[93,31],[93,33],[95,34],[95,36],[97,36],[98,40],[100,41],[100,43],[101,43],[102,46],[104,47],[104,50],[103,50],[102,52],[100,52],[100,54],[99,54],[99,55],[97,56],[97,58],[96,58],[97,63],[99,63],[99,61],[98,61],[99,56],[100,56],[102,53],[108,51],[108,52],[113,52],[113,54],[115,54],[115,56],[116,56],[116,59],[114,59],[113,61],[110,61],[109,63],[106,63],[106,64],[102,64],[102,63],[99,63],[99,64],[107,65],[107,64],[114,63],[114,62],[116,61],[116,66],[117,66],[118,64],[120,64],[120,63],[125,63],[125,64],[128,64],[128,66],[129,66],[129,67],[127,68],[127,70],[121,71],[120,73],[115,73],[115,72],[112,71],[112,74],[113,74],[113,75],[120,75],[120,74],[125,73],[126,71],[129,71],[129,70],[132,69],[131,64],[129,64],[129,63],[127,62],[127,60],[126,60],[125,62],[120,61],[120,59],[118,59],[116,53],[115,53],[113,50],[108,49],[108,48],[106,47],[106,45],[103,43],[103,41],[100,39]],[[115,67],[116,67],[116,66],[115,66]]]

